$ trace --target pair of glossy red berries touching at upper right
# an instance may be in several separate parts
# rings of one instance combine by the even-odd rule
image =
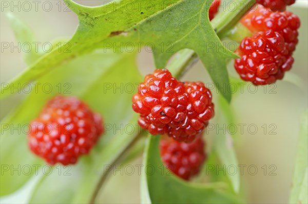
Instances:
[[[266,85],[282,79],[292,67],[298,43],[299,18],[291,12],[273,12],[258,5],[241,20],[254,35],[242,40],[235,69],[245,81]]]

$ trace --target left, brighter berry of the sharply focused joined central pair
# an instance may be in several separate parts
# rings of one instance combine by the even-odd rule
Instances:
[[[145,76],[138,94],[132,98],[132,109],[140,114],[138,123],[151,134],[164,134],[168,124],[185,110],[182,105],[185,87],[168,70],[155,70]]]

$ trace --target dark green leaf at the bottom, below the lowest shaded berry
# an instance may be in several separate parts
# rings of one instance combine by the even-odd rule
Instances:
[[[240,203],[222,183],[193,184],[171,175],[162,164],[159,136],[148,136],[141,180],[145,203]]]

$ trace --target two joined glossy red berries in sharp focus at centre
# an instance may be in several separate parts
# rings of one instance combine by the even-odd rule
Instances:
[[[191,142],[214,116],[210,90],[202,82],[180,82],[168,70],[145,76],[132,109],[138,123],[151,134],[165,134],[180,142]]]

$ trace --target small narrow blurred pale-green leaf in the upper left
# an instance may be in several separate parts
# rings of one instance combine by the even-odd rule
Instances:
[[[33,46],[33,42],[36,41],[31,29],[25,25],[23,21],[14,16],[13,13],[7,13],[7,18],[12,30],[15,33],[17,41],[21,44],[20,47],[22,47],[22,44],[25,44],[25,46],[29,44],[31,48],[31,46]],[[35,50],[34,48],[31,49],[30,52],[24,52],[23,49],[21,50],[23,51],[24,60],[28,65],[32,64],[44,54],[41,50]]]

